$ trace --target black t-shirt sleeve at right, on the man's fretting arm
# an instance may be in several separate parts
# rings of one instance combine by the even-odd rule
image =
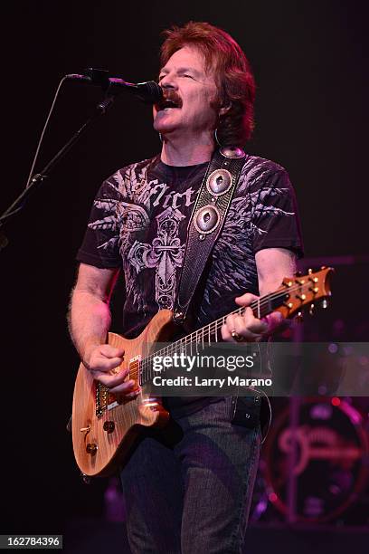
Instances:
[[[254,253],[264,248],[287,248],[303,256],[295,192],[280,168],[265,179],[251,215]]]

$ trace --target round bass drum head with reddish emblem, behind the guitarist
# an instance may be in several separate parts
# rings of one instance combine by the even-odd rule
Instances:
[[[293,468],[289,407],[271,424],[264,444],[269,499],[288,515],[293,469],[296,520],[329,521],[354,503],[364,489],[368,437],[360,413],[340,398],[301,398],[299,403]]]

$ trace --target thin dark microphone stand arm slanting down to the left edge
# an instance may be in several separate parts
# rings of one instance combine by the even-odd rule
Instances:
[[[5,224],[6,221],[8,221],[8,219],[10,219],[13,215],[17,214],[24,207],[24,204],[27,201],[28,196],[31,195],[31,193],[36,188],[36,186],[41,185],[41,183],[43,182],[43,179],[46,179],[47,177],[49,177],[50,173],[52,172],[52,169],[59,163],[61,158],[65,156],[65,154],[71,149],[71,147],[74,146],[74,144],[80,139],[82,134],[90,127],[91,123],[93,123],[95,119],[98,119],[101,115],[104,115],[107,112],[107,110],[109,110],[115,98],[116,98],[116,95],[107,96],[96,106],[90,119],[88,119],[82,125],[82,127],[78,129],[76,133],[74,133],[71,139],[68,140],[68,142],[50,160],[50,162],[46,164],[45,167],[43,167],[40,173],[35,173],[33,175],[32,179],[29,182],[29,186],[24,188],[22,193],[14,200],[13,204],[10,205],[5,210],[4,214],[0,216],[0,251],[4,249],[5,246],[9,243],[5,234],[2,233],[1,227]]]

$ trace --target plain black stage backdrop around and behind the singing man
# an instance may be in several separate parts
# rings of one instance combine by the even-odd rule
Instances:
[[[257,126],[247,149],[289,170],[307,256],[366,254],[364,1],[35,0],[6,6],[1,210],[24,187],[61,76],[93,66],[127,81],[153,79],[161,31],[189,19],[227,30],[251,61]],[[36,169],[99,99],[98,89],[64,85]],[[61,533],[67,521],[103,512],[106,482],[80,483],[65,431],[78,367],[65,314],[75,254],[99,184],[159,148],[150,109],[122,96],[6,225],[10,244],[0,254],[3,533]],[[336,305],[356,298],[355,279],[365,281],[364,271],[367,266],[357,263],[347,274]]]

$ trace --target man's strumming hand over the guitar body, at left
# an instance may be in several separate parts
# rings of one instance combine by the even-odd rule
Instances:
[[[90,349],[83,365],[90,369],[94,379],[99,381],[109,392],[124,395],[128,398],[137,396],[135,381],[128,380],[129,369],[118,369],[124,358],[124,349],[117,349],[109,344],[99,344]]]

